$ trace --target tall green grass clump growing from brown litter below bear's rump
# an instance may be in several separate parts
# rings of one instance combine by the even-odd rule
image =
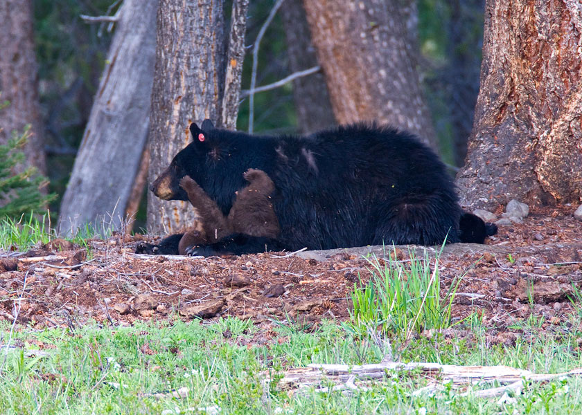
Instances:
[[[441,297],[440,253],[436,252],[433,265],[426,251],[423,258],[411,252],[406,262],[391,255],[367,258],[370,280],[361,287],[354,285],[351,293],[355,328],[365,333],[370,326],[380,326],[385,332],[405,333],[409,339],[414,332],[449,327],[452,301],[462,277]]]

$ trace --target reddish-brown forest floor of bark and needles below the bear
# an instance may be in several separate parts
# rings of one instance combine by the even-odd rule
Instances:
[[[453,319],[475,313],[491,344],[566,330],[567,317],[582,314],[582,221],[573,211],[534,210],[524,223],[500,227],[486,245],[446,246],[439,257],[442,294],[463,276]],[[385,257],[382,247],[242,257],[135,255],[143,238],[114,236],[87,241],[87,247],[53,241],[26,254],[4,252],[0,320],[74,329],[91,319],[123,326],[231,315],[252,319],[262,329],[248,341],[264,344],[275,322],[317,326],[324,318],[345,320],[354,285],[371,275],[364,255],[376,255],[380,263]],[[386,255],[393,249],[386,248]],[[434,248],[397,247],[396,259],[423,257],[425,250],[434,264]],[[463,329],[449,334],[472,335]]]

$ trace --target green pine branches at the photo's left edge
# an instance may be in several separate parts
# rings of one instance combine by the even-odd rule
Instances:
[[[6,145],[0,145],[0,216],[15,217],[25,212],[45,210],[55,194],[43,194],[47,179],[35,167],[19,172],[17,166],[24,162],[22,148],[30,137],[30,125],[22,133],[12,131]]]

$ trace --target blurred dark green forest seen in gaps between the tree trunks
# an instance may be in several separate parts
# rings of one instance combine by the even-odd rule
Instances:
[[[81,16],[113,15],[120,2],[34,0],[32,3],[39,118],[46,154],[45,174],[50,181],[48,192],[57,195],[50,203],[51,214],[56,217],[100,77],[103,76],[107,51],[115,30],[115,24],[89,24]],[[288,0],[286,3],[301,2]],[[411,32],[418,35],[417,39],[413,36],[411,40],[418,42],[417,47],[412,48],[416,70],[432,115],[438,150],[455,172],[455,167],[464,163],[479,92],[484,1],[418,0],[416,3],[395,3],[402,10],[412,5],[412,19],[408,19],[408,22],[413,25]],[[251,82],[250,48],[273,5],[274,2],[270,0],[252,1],[249,4],[243,90],[249,89]],[[231,2],[227,1],[224,4],[227,19],[230,10]],[[299,22],[293,21],[294,18],[291,7],[283,6],[267,28],[258,54],[258,86],[276,82],[297,71],[293,67],[297,66],[297,62],[290,56],[293,44],[290,32],[300,27],[297,26]],[[307,28],[306,23],[303,26]],[[228,28],[229,24],[225,27]],[[303,85],[300,86],[299,82],[303,82]],[[330,118],[326,118],[326,109],[323,109],[323,115],[311,114],[310,117],[307,114],[306,118],[306,108],[302,105],[301,97],[297,97],[299,87],[314,90],[318,88],[317,82],[321,84],[321,74],[309,75],[279,88],[257,93],[254,96],[254,132],[301,133],[333,124],[330,108],[327,109]],[[306,104],[306,99],[303,99],[303,104]],[[247,98],[240,104],[237,129],[246,131],[248,127]],[[142,192],[141,203],[135,214],[136,231],[145,228],[145,206],[145,192]]]

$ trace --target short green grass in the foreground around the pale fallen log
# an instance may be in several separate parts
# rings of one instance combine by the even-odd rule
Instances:
[[[264,374],[311,362],[373,363],[384,350],[333,322],[312,333],[281,324],[262,345],[250,321],[233,318],[213,324],[179,320],[168,324],[99,328],[89,324],[71,332],[21,328],[0,349],[1,414],[170,414],[204,413],[188,408],[219,407],[220,414],[579,414],[582,381],[576,378],[544,384],[525,382],[515,401],[460,396],[450,385],[437,394],[414,396],[426,385],[418,374],[389,373],[368,391],[342,394],[263,387]],[[0,327],[8,342],[9,324]],[[401,361],[455,365],[510,365],[538,373],[582,367],[574,350],[581,333],[561,338],[540,334],[518,338],[515,347],[491,346],[484,336],[468,344],[438,337],[420,338],[396,350]],[[46,356],[30,356],[42,349]],[[37,352],[39,353],[39,352]],[[30,357],[26,357],[30,356]],[[495,386],[495,385],[493,385]],[[152,394],[188,388],[185,398]],[[170,412],[176,410],[178,412]],[[166,412],[164,412],[166,411]]]

